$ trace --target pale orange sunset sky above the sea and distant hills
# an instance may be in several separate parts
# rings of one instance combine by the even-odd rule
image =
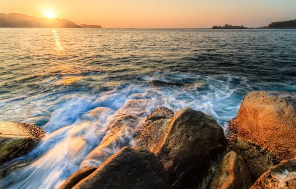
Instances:
[[[0,0],[0,12],[68,18],[105,28],[266,26],[296,19],[296,0]]]

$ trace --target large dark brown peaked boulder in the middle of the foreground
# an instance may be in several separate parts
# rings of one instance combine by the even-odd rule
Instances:
[[[174,188],[193,189],[226,146],[223,129],[215,119],[187,107],[172,117],[151,152],[161,160]]]

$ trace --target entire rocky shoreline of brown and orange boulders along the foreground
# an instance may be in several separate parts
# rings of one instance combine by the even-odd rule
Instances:
[[[152,85],[175,84],[156,81]],[[141,103],[147,102],[130,100],[124,108],[139,108]],[[141,129],[137,129],[136,119],[137,115],[118,110],[110,126],[112,132],[107,133],[116,138],[118,132],[132,125],[129,128],[133,129],[136,146],[122,144],[123,148],[101,166],[83,167],[59,189],[296,188],[295,93],[247,94],[237,117],[229,121],[228,138],[212,116],[189,107],[175,114],[165,107],[156,108]],[[7,122],[0,123],[0,141],[7,141],[3,124]],[[15,156],[2,155],[2,162],[28,153],[44,136],[37,126],[25,128],[26,138],[34,140],[30,148],[19,148]],[[103,139],[103,145],[88,157],[101,158],[106,145],[108,140]],[[0,149],[3,154],[2,142]]]

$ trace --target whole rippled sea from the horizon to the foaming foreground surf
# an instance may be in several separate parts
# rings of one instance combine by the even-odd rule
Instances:
[[[102,157],[88,156],[121,114],[136,115],[140,128],[155,107],[189,106],[227,133],[248,92],[296,92],[295,44],[295,29],[0,28],[0,120],[46,131],[31,153],[0,168],[14,170],[0,186],[57,188],[123,144],[136,145],[125,127]],[[151,87],[153,79],[186,85]]]

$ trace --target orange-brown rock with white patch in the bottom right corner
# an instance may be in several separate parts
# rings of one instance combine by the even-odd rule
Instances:
[[[270,168],[250,189],[296,189],[296,159]]]

